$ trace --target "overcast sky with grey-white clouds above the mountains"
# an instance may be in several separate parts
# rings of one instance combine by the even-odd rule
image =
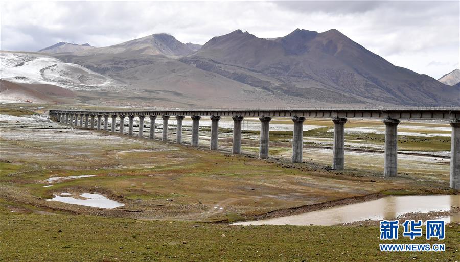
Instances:
[[[459,67],[460,2],[0,2],[0,49],[60,41],[107,46],[170,33],[204,44],[236,29],[258,37],[335,28],[395,65],[434,78]]]

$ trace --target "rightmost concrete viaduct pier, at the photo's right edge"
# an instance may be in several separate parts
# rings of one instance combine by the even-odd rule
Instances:
[[[450,122],[452,138],[450,144],[450,182],[449,186],[460,190],[460,120]]]

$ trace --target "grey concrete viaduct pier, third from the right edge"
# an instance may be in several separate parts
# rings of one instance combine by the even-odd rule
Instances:
[[[334,122],[334,151],[332,159],[332,168],[342,170],[345,165],[345,123],[347,118],[336,117]]]

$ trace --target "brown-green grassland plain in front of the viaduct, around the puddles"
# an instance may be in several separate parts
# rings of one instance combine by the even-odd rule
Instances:
[[[428,170],[429,176],[416,170],[392,179],[380,177],[372,167],[336,172],[314,160],[289,163],[283,157],[289,142],[278,141],[288,139],[284,133],[270,133],[275,158],[260,160],[252,150],[241,156],[226,154],[229,139],[224,133],[224,152],[211,152],[38,120],[36,114],[42,112],[0,107],[0,114],[37,119],[0,124],[0,260],[449,261],[458,257],[458,224],[447,228],[443,241],[447,251],[435,254],[382,254],[375,226],[223,224],[274,210],[327,201],[340,204],[344,198],[454,193],[444,170]],[[315,132],[306,135],[330,136],[327,130]],[[248,149],[257,147],[250,135],[243,141]],[[206,142],[202,140],[201,145]],[[430,147],[429,142],[424,145],[417,150]],[[441,150],[447,150],[445,145]],[[448,170],[448,165],[434,165]],[[95,176],[46,181],[78,175]],[[45,201],[62,192],[100,193],[125,206],[102,209]]]

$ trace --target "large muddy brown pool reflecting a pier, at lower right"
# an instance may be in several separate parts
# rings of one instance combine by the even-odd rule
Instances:
[[[388,196],[377,200],[291,215],[280,218],[234,223],[233,225],[318,225],[332,226],[361,220],[395,219],[406,213],[449,211],[460,205],[458,195]],[[460,215],[440,218],[460,222]]]

